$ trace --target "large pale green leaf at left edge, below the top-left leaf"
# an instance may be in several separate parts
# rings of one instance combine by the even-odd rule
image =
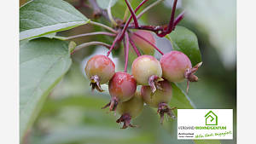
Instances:
[[[20,42],[20,137],[71,63],[67,42],[45,37]]]

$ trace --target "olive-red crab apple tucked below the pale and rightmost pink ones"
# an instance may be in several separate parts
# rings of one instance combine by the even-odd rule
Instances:
[[[167,80],[159,82],[162,89],[156,89],[152,93],[149,86],[143,86],[141,89],[141,95],[143,95],[143,101],[149,107],[158,108],[157,112],[160,114],[160,123],[163,123],[164,114],[166,113],[171,118],[175,118],[172,110],[174,108],[168,107],[168,103],[172,99],[172,85]]]

